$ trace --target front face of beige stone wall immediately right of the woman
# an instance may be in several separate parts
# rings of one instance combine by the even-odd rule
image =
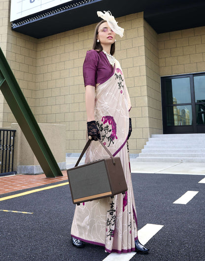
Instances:
[[[117,39],[115,57],[119,60],[130,94],[133,132],[129,141],[131,153],[139,153],[148,139],[147,77],[143,12],[117,19],[125,29]],[[119,42],[120,41],[120,42]]]

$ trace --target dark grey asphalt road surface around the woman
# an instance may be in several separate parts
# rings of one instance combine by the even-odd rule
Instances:
[[[129,259],[121,254],[112,260],[205,261],[205,183],[199,183],[203,178],[202,174],[132,174],[138,229],[146,224],[162,228],[146,243],[148,255]],[[186,191],[198,193],[187,204],[173,204]],[[22,192],[28,194],[18,196]],[[16,197],[8,198],[12,195]],[[108,260],[111,256],[101,246],[71,245],[74,209],[67,181],[1,194],[0,261]]]

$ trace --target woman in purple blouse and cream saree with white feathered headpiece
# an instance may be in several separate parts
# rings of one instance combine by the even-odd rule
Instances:
[[[127,140],[132,132],[131,103],[115,51],[115,32],[123,35],[109,12],[96,27],[93,49],[83,64],[88,136],[94,140],[87,149],[85,162],[109,157],[101,139],[113,156],[120,157],[128,191],[114,198],[103,198],[76,206],[71,227],[72,244],[83,247],[89,242],[105,247],[108,253],[136,251],[147,253],[137,238],[137,215],[131,181]]]

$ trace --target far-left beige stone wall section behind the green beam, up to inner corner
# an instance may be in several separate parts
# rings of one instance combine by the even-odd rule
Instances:
[[[10,1],[0,0],[0,47],[34,112],[37,39],[11,31]],[[0,93],[0,127],[16,122]]]

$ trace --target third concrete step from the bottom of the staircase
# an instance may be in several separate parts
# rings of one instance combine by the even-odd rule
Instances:
[[[205,153],[205,149],[176,149],[174,147],[174,149],[167,149],[164,148],[162,149],[161,147],[157,148],[157,149],[149,149],[149,147],[147,149],[142,149],[141,150],[142,153]]]

